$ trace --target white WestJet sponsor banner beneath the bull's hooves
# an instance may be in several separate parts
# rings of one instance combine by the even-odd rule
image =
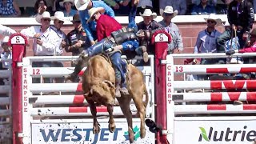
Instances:
[[[108,123],[101,122],[99,134],[93,134],[93,123],[42,123],[32,124],[32,144],[41,143],[130,143],[126,122],[116,122],[116,130],[110,133]],[[146,137],[140,138],[140,122],[134,122],[134,143],[154,143],[154,134],[147,130]]]

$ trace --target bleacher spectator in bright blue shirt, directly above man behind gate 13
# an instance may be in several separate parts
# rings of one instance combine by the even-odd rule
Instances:
[[[199,5],[196,5],[192,8],[192,15],[201,15],[201,14],[216,14],[214,6],[207,4],[208,0],[201,0]]]

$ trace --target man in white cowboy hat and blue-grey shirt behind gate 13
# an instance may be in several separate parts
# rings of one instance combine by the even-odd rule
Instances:
[[[194,46],[194,54],[198,53],[216,53],[216,38],[218,38],[221,33],[215,29],[215,26],[220,26],[222,20],[217,18],[215,14],[210,14],[208,18],[205,18],[207,22],[206,30],[202,30],[198,34],[196,44]],[[201,64],[214,64],[214,59],[201,59]]]

